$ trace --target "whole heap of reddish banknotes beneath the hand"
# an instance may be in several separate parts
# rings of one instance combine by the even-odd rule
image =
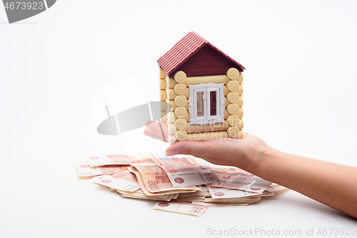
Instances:
[[[189,155],[106,154],[76,164],[89,177],[123,197],[156,200],[154,209],[201,217],[212,204],[245,207],[286,189],[236,167]]]

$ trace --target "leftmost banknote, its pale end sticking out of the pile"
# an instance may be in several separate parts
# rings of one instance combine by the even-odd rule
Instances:
[[[94,166],[90,167],[89,164],[75,164],[77,175],[79,177],[91,177],[102,174],[115,174],[118,172],[126,171],[126,166],[107,165],[107,166]]]

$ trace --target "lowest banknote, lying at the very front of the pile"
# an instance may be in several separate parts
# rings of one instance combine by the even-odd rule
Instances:
[[[203,212],[206,212],[208,209],[208,206],[188,202],[156,202],[153,209],[201,217]]]

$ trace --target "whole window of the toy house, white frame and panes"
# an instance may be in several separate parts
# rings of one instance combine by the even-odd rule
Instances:
[[[223,84],[198,84],[189,87],[190,124],[224,122]]]

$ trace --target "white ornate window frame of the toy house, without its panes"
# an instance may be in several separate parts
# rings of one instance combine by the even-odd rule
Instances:
[[[188,111],[190,112],[190,124],[213,124],[224,122],[224,94],[223,84],[198,84],[190,85],[188,98]],[[203,91],[204,116],[197,115],[197,92]],[[211,116],[211,91],[216,91],[216,115]]]

